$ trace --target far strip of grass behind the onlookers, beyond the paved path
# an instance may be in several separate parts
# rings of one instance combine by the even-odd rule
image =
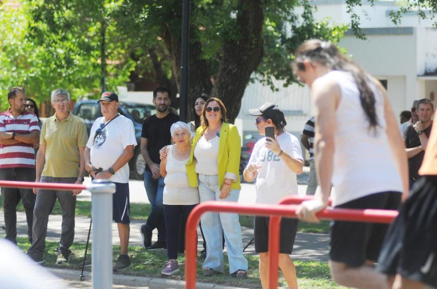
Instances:
[[[3,209],[3,198],[0,196],[0,209]],[[18,211],[24,211],[23,205],[20,204],[17,207]],[[145,221],[150,213],[150,204],[139,204],[131,203],[131,220]],[[52,214],[61,214],[59,202],[53,208]],[[91,216],[91,202],[88,201],[77,201],[76,203],[76,215],[77,216]],[[241,226],[247,228],[254,228],[254,217],[240,215]],[[322,221],[319,224],[309,224],[304,222],[299,222],[299,232],[303,233],[328,233],[329,232],[329,221]]]

